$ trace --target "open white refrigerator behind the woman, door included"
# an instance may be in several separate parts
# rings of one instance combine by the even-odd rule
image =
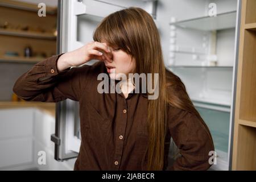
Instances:
[[[240,0],[59,0],[58,53],[92,40],[97,24],[130,6],[152,15],[164,62],[184,82],[189,97],[212,133],[217,164],[229,170],[232,159]],[[86,64],[93,64],[97,60]],[[81,143],[79,104],[56,104],[55,159],[76,158]],[[170,148],[170,151],[172,148]]]

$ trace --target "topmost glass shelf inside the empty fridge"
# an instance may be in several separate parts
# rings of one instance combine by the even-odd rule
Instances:
[[[221,30],[236,27],[236,15],[237,11],[230,11],[212,17],[203,16],[200,18],[171,22],[170,25],[204,31]]]

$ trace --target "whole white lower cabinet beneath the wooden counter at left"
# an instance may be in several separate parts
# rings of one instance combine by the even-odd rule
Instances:
[[[31,107],[0,110],[0,170],[73,170],[75,160],[54,160],[55,117]],[[46,164],[38,163],[44,152]]]

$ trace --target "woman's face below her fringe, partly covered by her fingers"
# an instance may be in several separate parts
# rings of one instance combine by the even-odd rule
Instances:
[[[107,43],[102,43],[108,46]],[[110,46],[109,48],[111,49],[113,62],[110,63],[109,61],[105,60],[104,63],[107,67],[107,71],[109,73],[110,78],[113,80],[119,80],[119,73],[125,74],[126,78],[128,78],[129,73],[134,73],[135,59],[131,59],[131,55],[128,55],[125,51],[122,51],[122,49],[113,48]],[[109,69],[108,67],[112,68]]]

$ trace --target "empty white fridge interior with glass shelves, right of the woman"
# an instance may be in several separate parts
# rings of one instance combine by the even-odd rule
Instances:
[[[196,2],[199,7],[203,5],[202,1]],[[193,7],[196,2],[193,1]],[[205,12],[195,18],[171,17],[167,68],[184,82],[189,97],[210,129],[217,152],[217,165],[212,169],[228,170],[237,1],[205,2]],[[216,5],[216,16],[208,15],[210,3]]]

